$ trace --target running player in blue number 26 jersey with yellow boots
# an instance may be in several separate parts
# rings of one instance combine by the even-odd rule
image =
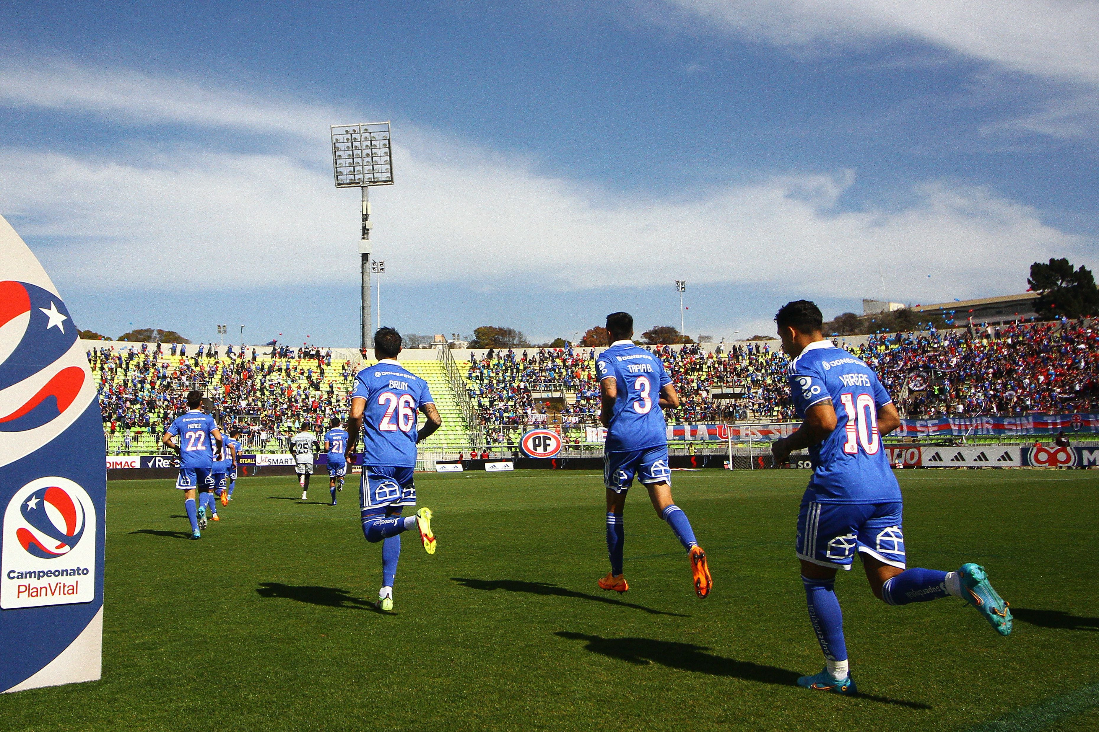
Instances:
[[[359,484],[359,510],[363,534],[368,542],[381,542],[381,590],[377,606],[393,609],[393,579],[401,553],[400,534],[415,528],[428,554],[434,554],[435,534],[431,531],[431,509],[402,517],[406,506],[415,506],[417,443],[433,433],[443,420],[428,389],[428,382],[406,370],[397,362],[401,335],[392,328],[379,328],[374,334],[374,351],[379,361],[355,377],[351,417],[347,419],[345,457],[354,464],[355,447],[363,436],[363,478]],[[417,430],[417,411],[426,420]]]

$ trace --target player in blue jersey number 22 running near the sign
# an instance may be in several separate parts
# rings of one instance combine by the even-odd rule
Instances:
[[[221,430],[213,418],[202,411],[202,392],[187,393],[190,411],[176,418],[160,441],[179,453],[179,477],[176,488],[184,491],[184,508],[191,522],[191,539],[199,539],[206,529],[207,499],[212,499],[210,470],[213,467],[214,451],[221,451]],[[199,490],[203,506],[196,509],[195,491]],[[212,500],[210,501],[212,502]]]

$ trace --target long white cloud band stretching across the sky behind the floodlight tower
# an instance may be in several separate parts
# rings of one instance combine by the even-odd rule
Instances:
[[[214,86],[121,70],[103,71],[100,85],[97,74],[62,68],[31,84],[0,68],[0,99],[295,140],[280,153],[268,137],[256,154],[0,147],[0,211],[18,217],[24,236],[58,237],[41,252],[55,276],[134,289],[211,271],[255,286],[357,279],[357,193],[332,186],[330,109],[295,102],[280,112],[277,99]],[[741,285],[746,297],[781,287],[851,298],[877,292],[881,266],[890,290],[920,301],[1018,291],[1031,262],[1084,253],[1083,240],[1033,209],[948,181],[917,186],[904,206],[855,212],[836,206],[850,173],[714,187],[669,202],[546,177],[429,130],[401,127],[399,138],[397,185],[371,196],[387,277],[409,282],[568,291],[686,277]]]

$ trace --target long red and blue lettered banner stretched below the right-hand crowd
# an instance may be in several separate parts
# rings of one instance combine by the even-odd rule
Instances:
[[[800,422],[774,424],[669,424],[668,440],[712,440],[725,442],[769,442],[787,437]],[[901,420],[890,436],[962,437],[1094,434],[1099,432],[1099,414],[1028,414],[1025,417],[944,417],[933,420]]]

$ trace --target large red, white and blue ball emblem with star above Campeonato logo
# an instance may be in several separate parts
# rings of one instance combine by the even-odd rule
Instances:
[[[27,282],[0,281],[0,398],[62,358],[77,340],[65,303],[49,290]],[[34,393],[0,410],[0,432],[24,432],[64,414],[87,378],[79,366],[54,374]],[[82,406],[82,404],[81,404]]]

